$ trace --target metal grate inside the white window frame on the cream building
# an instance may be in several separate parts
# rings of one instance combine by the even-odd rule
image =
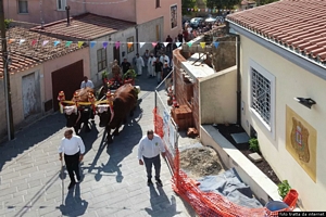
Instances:
[[[251,68],[251,108],[271,126],[271,80]]]

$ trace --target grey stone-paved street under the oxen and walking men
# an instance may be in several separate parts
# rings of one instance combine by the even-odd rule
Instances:
[[[147,187],[145,167],[138,165],[137,143],[153,128],[155,79],[146,74],[140,103],[112,144],[105,145],[98,117],[91,132],[82,132],[86,155],[83,182],[67,191],[61,175],[58,146],[65,130],[64,116],[54,113],[18,131],[0,146],[0,216],[196,216],[172,190],[171,173],[162,161],[163,188]],[[63,179],[62,179],[63,178]]]

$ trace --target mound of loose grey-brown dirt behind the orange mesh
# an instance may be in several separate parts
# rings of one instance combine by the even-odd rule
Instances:
[[[224,171],[216,151],[209,146],[190,148],[180,152],[180,168],[190,178],[218,175]]]

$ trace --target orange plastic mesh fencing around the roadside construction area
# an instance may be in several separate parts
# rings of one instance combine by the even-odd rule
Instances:
[[[163,118],[158,114],[156,108],[154,113],[154,129],[155,133],[163,137]],[[173,168],[172,187],[173,190],[187,201],[201,217],[267,217],[278,216],[278,212],[292,210],[298,200],[296,190],[291,190],[285,197],[284,202],[289,205],[278,212],[271,212],[265,207],[248,208],[228,201],[225,196],[213,193],[202,192],[198,188],[196,180],[188,178],[187,174],[180,170],[179,151],[176,148],[175,155],[168,153],[166,150],[166,157],[171,167]]]

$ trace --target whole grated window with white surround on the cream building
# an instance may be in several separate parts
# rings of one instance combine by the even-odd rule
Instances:
[[[251,111],[274,137],[275,76],[253,61],[250,66]]]

